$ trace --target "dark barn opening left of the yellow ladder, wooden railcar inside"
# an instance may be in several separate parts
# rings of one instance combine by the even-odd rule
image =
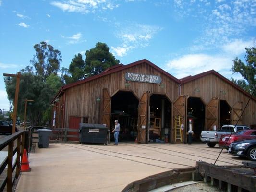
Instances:
[[[170,141],[171,102],[164,95],[150,96],[149,139]]]

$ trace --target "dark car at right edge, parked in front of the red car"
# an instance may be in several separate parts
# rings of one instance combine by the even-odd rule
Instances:
[[[230,144],[228,152],[234,156],[247,157],[256,161],[256,139],[235,141]]]

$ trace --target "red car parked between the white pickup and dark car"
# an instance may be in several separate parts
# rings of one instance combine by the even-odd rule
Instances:
[[[229,148],[229,145],[234,142],[234,141],[240,141],[240,140],[244,140],[244,139],[256,139],[256,130],[250,129],[250,130],[240,130],[238,132],[234,132],[230,138],[229,138],[230,134],[226,134],[226,135],[221,135],[220,139],[219,139],[219,147],[223,147],[227,140],[227,144],[224,147],[225,149]]]

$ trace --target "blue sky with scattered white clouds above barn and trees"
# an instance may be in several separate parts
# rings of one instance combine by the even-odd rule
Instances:
[[[232,74],[256,41],[256,0],[0,0],[0,75],[30,64],[33,46],[61,51],[61,67],[106,43],[123,64],[146,58],[177,78]],[[8,109],[3,76],[0,108]]]

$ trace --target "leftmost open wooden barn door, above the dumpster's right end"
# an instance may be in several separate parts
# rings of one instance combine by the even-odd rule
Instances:
[[[111,97],[106,88],[103,89],[103,124],[106,124],[110,129],[110,115],[111,115]]]

